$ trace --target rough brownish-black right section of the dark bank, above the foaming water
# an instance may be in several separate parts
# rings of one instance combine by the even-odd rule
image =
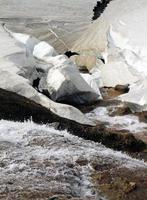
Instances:
[[[65,124],[60,124],[60,129],[64,129]],[[146,145],[140,139],[135,138],[129,131],[107,128],[105,123],[97,123],[95,127],[75,126],[69,124],[68,131],[87,140],[101,142],[107,147],[117,150],[142,151]]]

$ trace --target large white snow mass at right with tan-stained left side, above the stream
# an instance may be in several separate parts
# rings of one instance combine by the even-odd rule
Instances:
[[[101,71],[103,86],[130,84],[130,92],[120,99],[133,112],[147,109],[146,11],[146,0],[111,1],[72,49],[80,54],[75,58],[79,67]]]

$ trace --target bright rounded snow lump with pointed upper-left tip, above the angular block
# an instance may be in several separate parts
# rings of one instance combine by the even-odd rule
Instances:
[[[48,57],[56,56],[57,52],[50,44],[27,34],[14,33],[7,29],[5,25],[3,27],[19,45],[23,45],[26,49],[27,61],[31,67],[35,66],[36,68],[41,68],[43,70],[51,67],[46,63],[46,59]]]

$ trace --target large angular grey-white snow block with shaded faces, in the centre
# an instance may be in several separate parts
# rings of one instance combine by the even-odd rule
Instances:
[[[56,56],[47,61],[52,62],[54,67],[48,71],[45,83],[41,81],[39,89],[47,90],[51,99],[70,104],[87,104],[99,100],[100,92],[96,83],[90,87],[72,61],[65,56]]]

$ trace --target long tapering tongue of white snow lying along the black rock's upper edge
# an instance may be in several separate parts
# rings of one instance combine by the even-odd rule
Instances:
[[[8,71],[0,71],[0,88],[26,97],[60,117],[74,120],[82,124],[94,125],[94,123],[78,109],[66,104],[53,102],[48,97],[35,90],[29,84],[29,80],[17,74]]]

